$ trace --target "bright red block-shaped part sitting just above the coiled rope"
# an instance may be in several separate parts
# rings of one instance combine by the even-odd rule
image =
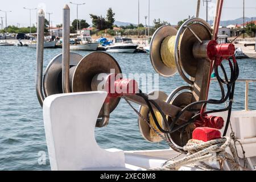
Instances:
[[[208,142],[210,140],[221,138],[221,133],[217,129],[212,129],[209,127],[197,127],[193,131],[192,138],[195,140]]]

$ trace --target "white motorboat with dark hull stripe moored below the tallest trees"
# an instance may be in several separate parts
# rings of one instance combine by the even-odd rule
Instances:
[[[106,52],[127,52],[134,53],[138,45],[130,38],[116,37],[114,44],[106,46]]]

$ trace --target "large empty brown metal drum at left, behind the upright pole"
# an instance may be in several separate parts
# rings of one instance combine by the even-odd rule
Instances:
[[[44,94],[46,97],[52,94],[63,93],[61,80],[62,80],[62,67],[61,67],[62,54],[56,56],[48,65],[44,75]],[[69,81],[71,85],[71,92],[90,92],[92,90],[91,83],[94,76],[100,73],[110,73],[111,69],[115,74],[122,73],[117,61],[105,52],[92,52],[82,57],[77,53],[70,53],[70,69]],[[112,98],[110,100],[110,112],[117,107],[120,98]],[[102,117],[103,110],[99,114]]]

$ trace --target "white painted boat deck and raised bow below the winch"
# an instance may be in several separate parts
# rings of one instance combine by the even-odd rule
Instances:
[[[179,154],[171,149],[121,151],[100,148],[94,136],[94,129],[106,96],[106,92],[84,92],[57,94],[46,98],[43,117],[52,170],[141,171],[162,167],[166,160]],[[226,113],[218,115],[226,117]],[[237,137],[243,143],[247,162],[250,168],[254,169],[256,111],[233,111],[231,122]],[[239,146],[238,150],[242,156]],[[226,169],[229,167],[226,166]],[[184,166],[180,170],[199,169]]]

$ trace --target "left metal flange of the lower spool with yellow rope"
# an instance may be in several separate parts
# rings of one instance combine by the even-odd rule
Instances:
[[[163,100],[163,101],[166,101],[167,99],[167,94],[162,92],[162,91],[153,91],[151,93],[149,93],[148,95],[150,94],[156,94],[158,93],[159,95],[159,99],[160,100]],[[141,113],[141,115],[145,118],[145,119],[148,119],[149,117],[149,109],[147,107],[144,107],[144,106],[140,106],[139,107],[139,113]],[[163,122],[163,121],[162,121]],[[152,142],[152,143],[158,143],[158,142],[161,142],[163,139],[159,136],[156,136],[156,137],[152,137],[150,135],[150,126],[148,126],[148,124],[146,123],[146,121],[144,121],[141,117],[138,118],[138,125],[139,125],[139,130],[141,131],[141,134],[142,134],[142,137],[144,139],[146,139],[148,142]]]

